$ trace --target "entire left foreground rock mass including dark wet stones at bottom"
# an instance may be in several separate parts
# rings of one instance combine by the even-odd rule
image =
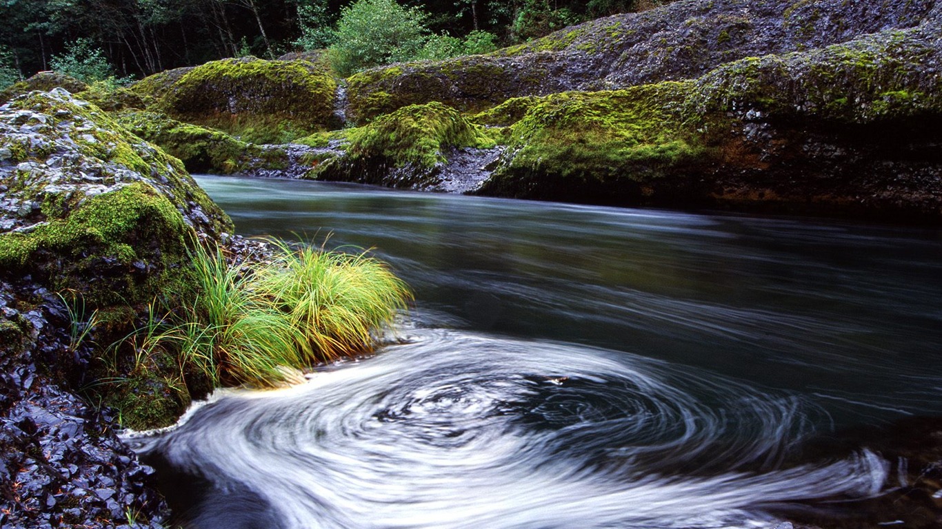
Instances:
[[[107,406],[166,422],[185,395],[133,347],[89,344],[186,293],[187,248],[231,221],[178,160],[60,88],[0,106],[0,182],[0,523],[156,527],[150,471]]]

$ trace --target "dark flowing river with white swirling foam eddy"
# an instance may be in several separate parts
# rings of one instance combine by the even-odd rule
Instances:
[[[189,526],[771,528],[898,464],[807,441],[942,415],[937,231],[199,180],[416,299],[374,357],[132,439]]]

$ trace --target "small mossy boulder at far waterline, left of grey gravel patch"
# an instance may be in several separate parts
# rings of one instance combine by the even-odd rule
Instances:
[[[438,184],[450,149],[495,145],[482,127],[437,102],[399,108],[344,136],[345,151],[308,178],[428,189]]]

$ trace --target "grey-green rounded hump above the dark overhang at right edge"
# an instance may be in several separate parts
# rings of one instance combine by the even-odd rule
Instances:
[[[697,80],[691,113],[749,110],[867,123],[942,113],[938,52],[922,28],[783,56],[747,57]]]

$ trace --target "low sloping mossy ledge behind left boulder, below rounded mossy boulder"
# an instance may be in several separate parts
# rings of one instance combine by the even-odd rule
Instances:
[[[179,158],[190,172],[235,174],[284,168],[283,151],[264,149],[222,131],[172,120],[164,114],[126,111],[116,119],[137,136]]]

